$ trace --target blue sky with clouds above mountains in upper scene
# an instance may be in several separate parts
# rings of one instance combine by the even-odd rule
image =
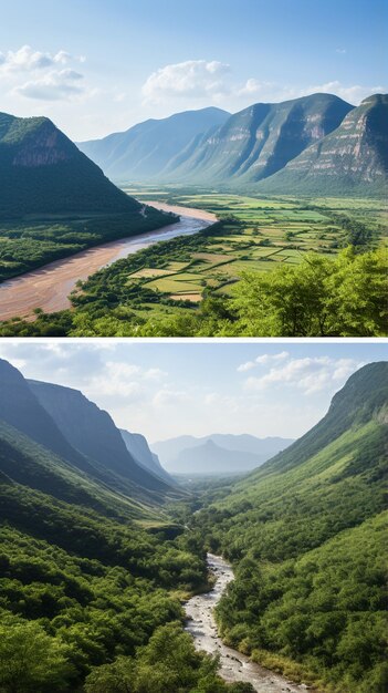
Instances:
[[[0,111],[75,141],[209,105],[387,91],[387,0],[0,4]]]

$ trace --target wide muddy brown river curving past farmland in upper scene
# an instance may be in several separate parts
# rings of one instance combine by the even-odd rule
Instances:
[[[197,234],[217,221],[214,215],[200,209],[155,201],[150,204],[158,209],[179,214],[180,220],[147,234],[129,236],[82,250],[21,277],[3,281],[0,285],[0,320],[9,320],[14,316],[32,319],[34,308],[41,308],[44,312],[70,308],[69,294],[78,279],[85,281],[103,267],[148,248],[159,240]]]

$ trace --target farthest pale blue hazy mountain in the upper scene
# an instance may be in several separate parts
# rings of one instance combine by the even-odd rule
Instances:
[[[159,175],[195,137],[221,125],[229,115],[214,107],[186,111],[145,121],[103,139],[80,142],[77,146],[109,177],[143,180]]]

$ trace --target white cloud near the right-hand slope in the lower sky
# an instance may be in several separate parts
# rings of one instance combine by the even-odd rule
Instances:
[[[248,377],[244,390],[260,392],[281,385],[297,387],[305,395],[311,395],[332,386],[338,387],[338,382],[345,382],[361,365],[353,359],[329,356],[289,359],[285,364],[273,365],[260,377]]]

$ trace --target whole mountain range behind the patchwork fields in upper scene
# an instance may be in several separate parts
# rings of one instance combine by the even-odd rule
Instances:
[[[214,108],[180,113],[78,146],[123,182],[252,194],[381,195],[388,179],[387,115],[385,94],[355,107],[317,93],[256,103],[232,115]]]

